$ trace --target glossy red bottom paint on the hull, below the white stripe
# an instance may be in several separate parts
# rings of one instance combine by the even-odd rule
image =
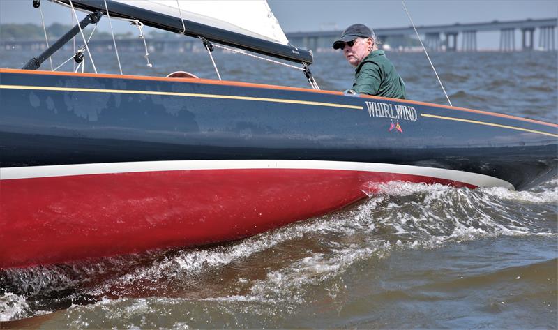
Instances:
[[[285,169],[4,179],[0,268],[241,239],[340,209],[366,197],[370,183],[394,180],[469,186],[405,174]]]

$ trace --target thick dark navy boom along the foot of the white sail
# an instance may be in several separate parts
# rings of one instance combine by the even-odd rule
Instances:
[[[66,3],[68,5],[70,3],[68,0],[58,0],[58,2]],[[126,3],[118,1],[107,0],[107,2],[109,2],[108,7],[110,8],[110,15],[112,17],[138,20],[143,24],[156,29],[171,31],[174,33],[183,33],[186,34],[186,36],[194,38],[203,37],[206,40],[215,43],[237,47],[250,52],[276,57],[278,59],[284,59],[306,65],[312,63],[311,52],[299,49],[292,45],[273,43],[268,40],[245,36],[241,33],[211,27],[209,25],[200,24],[190,20],[182,20],[181,22],[180,18],[156,13],[144,8],[130,6]],[[73,0],[73,5],[76,8],[90,12],[100,10],[106,15],[103,0]],[[183,27],[186,27],[186,31],[184,31]]]

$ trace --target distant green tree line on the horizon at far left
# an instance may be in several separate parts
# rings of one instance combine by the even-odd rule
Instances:
[[[1,0],[0,0],[1,1]],[[49,40],[56,40],[70,31],[72,26],[60,23],[52,23],[47,27]],[[88,32],[86,36],[89,36]],[[130,31],[126,33],[115,33],[116,38],[133,38],[134,34]],[[93,38],[112,38],[110,33],[95,31]],[[0,40],[45,40],[43,26],[36,24],[0,24]]]

